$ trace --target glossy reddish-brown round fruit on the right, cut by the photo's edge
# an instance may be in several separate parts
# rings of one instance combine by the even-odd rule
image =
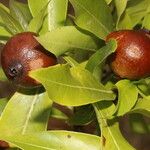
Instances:
[[[150,34],[142,30],[120,30],[110,33],[118,47],[110,66],[121,78],[140,79],[150,76]]]

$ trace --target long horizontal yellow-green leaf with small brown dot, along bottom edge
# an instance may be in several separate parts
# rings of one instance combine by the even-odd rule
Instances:
[[[24,150],[99,150],[98,136],[69,132],[49,131],[6,138]]]

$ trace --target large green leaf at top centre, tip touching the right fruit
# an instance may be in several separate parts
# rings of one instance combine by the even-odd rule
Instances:
[[[75,23],[101,39],[113,30],[111,11],[105,0],[70,0],[75,9]]]

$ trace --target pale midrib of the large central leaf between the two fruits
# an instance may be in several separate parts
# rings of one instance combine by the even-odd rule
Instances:
[[[43,80],[43,79],[42,79]],[[52,81],[50,79],[47,79],[47,81],[54,83],[54,84],[58,84],[58,85],[62,85],[62,86],[66,86],[66,87],[70,87],[70,88],[76,88],[76,89],[85,89],[85,90],[91,90],[91,91],[97,91],[97,92],[103,92],[103,93],[111,93],[113,94],[112,91],[106,91],[106,90],[100,90],[100,89],[96,89],[96,88],[90,88],[90,87],[82,87],[82,86],[78,86],[78,85],[70,85],[70,84],[64,84],[64,83],[60,83],[60,82],[56,82],[56,81]]]

